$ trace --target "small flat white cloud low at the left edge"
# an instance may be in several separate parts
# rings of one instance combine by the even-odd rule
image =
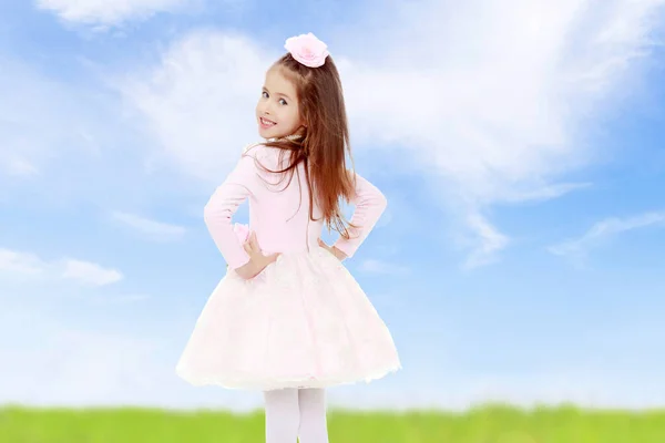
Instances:
[[[119,270],[94,262],[70,258],[47,261],[34,254],[4,248],[0,248],[0,272],[31,280],[68,279],[86,286],[106,286],[123,279]]]

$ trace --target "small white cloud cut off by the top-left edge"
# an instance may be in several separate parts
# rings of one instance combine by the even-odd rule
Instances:
[[[62,20],[85,24],[121,24],[131,19],[147,19],[158,12],[183,11],[197,0],[38,0],[38,8],[53,11]]]

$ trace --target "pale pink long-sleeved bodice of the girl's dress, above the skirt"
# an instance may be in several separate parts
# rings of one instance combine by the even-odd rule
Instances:
[[[287,158],[287,155],[284,156]],[[236,269],[249,261],[233,229],[232,218],[238,206],[249,199],[249,228],[256,233],[264,254],[306,251],[318,247],[324,220],[315,200],[314,218],[309,218],[309,190],[304,174],[304,165],[288,179],[265,172],[280,169],[286,163],[279,162],[279,150],[256,145],[245,151],[239,162],[209,198],[204,209],[204,219],[222,256],[229,268]],[[282,179],[282,182],[279,182]],[[339,238],[335,246],[348,257],[352,257],[365,241],[387,206],[383,194],[356,174],[355,206],[350,222],[357,226],[349,229],[350,238]]]

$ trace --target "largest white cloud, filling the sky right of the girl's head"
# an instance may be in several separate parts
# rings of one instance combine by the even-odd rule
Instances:
[[[554,198],[584,187],[548,183],[597,155],[584,145],[584,127],[640,71],[662,4],[408,3],[400,23],[409,30],[364,40],[390,69],[376,60],[342,65],[356,140],[408,147],[436,166],[450,203],[459,198],[471,214],[479,210],[473,204]],[[483,229],[471,224],[469,231]],[[490,243],[468,262],[491,262],[482,251],[495,256],[507,245],[483,238]]]

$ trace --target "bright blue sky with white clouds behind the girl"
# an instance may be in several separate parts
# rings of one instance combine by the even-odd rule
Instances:
[[[203,205],[314,32],[389,199],[348,266],[403,364],[330,402],[665,403],[663,1],[124,3],[3,6],[1,402],[260,404],[174,367],[223,275]]]

